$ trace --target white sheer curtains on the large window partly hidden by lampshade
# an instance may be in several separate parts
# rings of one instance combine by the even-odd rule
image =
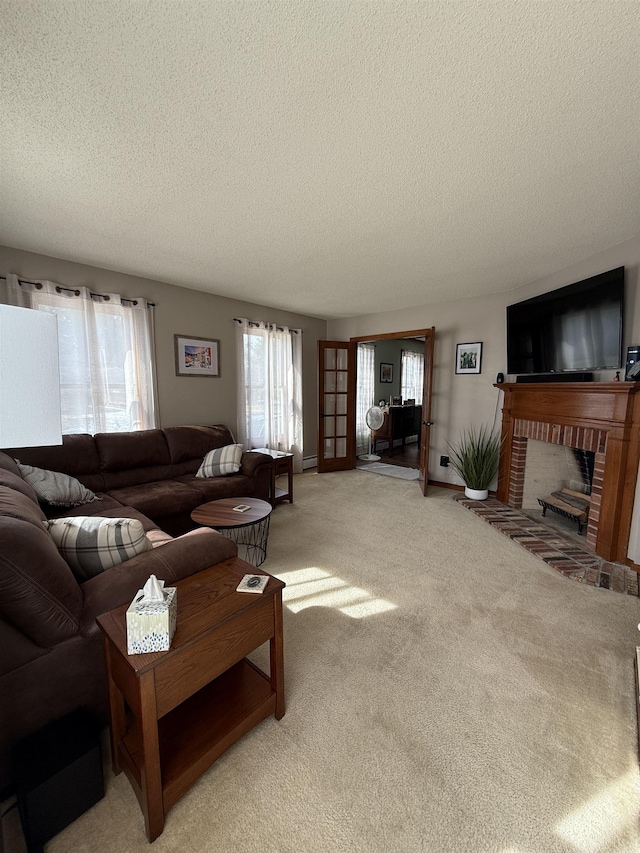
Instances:
[[[128,432],[156,426],[153,306],[7,276],[14,305],[58,318],[62,432]]]

